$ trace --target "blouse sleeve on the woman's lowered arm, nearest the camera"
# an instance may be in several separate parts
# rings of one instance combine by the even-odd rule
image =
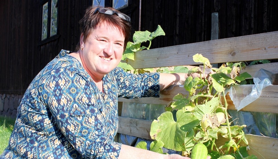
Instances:
[[[108,139],[96,93],[74,68],[56,70],[45,81],[43,98],[63,136],[83,158],[118,158],[121,144]]]

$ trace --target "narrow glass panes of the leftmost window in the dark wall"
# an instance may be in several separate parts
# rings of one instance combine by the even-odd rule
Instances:
[[[57,34],[58,0],[48,0],[43,4],[41,40]]]

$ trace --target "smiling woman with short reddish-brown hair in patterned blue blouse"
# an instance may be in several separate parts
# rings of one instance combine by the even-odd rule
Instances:
[[[116,67],[130,18],[114,8],[89,7],[78,50],[62,50],[34,78],[19,106],[0,158],[177,158],[114,142],[118,97],[158,97],[186,74],[128,74]]]

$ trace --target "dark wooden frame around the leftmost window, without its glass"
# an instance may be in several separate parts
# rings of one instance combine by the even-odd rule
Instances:
[[[42,39],[42,28],[43,28],[43,5],[45,5],[45,3],[47,3],[47,36],[45,39]],[[51,8],[51,5],[52,5],[52,0],[43,0],[41,1],[41,32],[40,32],[40,42],[39,42],[39,45],[42,45],[42,44],[45,44],[45,43],[48,43],[50,41],[53,41],[53,40],[56,40],[60,37],[60,35],[58,34],[59,32],[59,27],[58,27],[58,21],[59,21],[59,12],[57,10],[57,30],[56,30],[56,34],[55,35],[52,35],[50,36],[51,34],[51,14],[52,14],[52,8]],[[59,8],[59,0],[57,0],[57,9]]]

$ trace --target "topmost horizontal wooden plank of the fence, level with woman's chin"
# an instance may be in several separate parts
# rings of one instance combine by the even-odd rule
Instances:
[[[135,53],[133,68],[196,65],[196,53],[211,63],[278,59],[278,31],[142,50]]]

